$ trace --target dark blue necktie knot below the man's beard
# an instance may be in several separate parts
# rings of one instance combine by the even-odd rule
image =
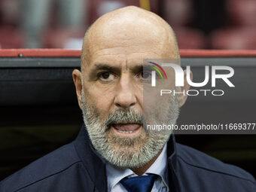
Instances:
[[[132,178],[123,178],[120,183],[128,192],[150,192],[157,175],[142,175]]]

